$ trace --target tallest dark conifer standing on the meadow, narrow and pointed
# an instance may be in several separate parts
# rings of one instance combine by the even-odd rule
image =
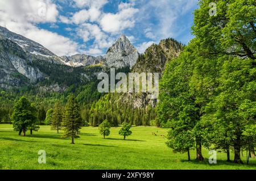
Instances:
[[[71,137],[71,144],[75,144],[74,138],[79,137],[79,129],[81,129],[82,119],[80,116],[80,107],[75,96],[71,95],[65,106],[65,113],[63,117],[64,133],[63,137]]]

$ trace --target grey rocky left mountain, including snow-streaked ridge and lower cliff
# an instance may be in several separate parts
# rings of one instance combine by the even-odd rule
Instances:
[[[33,65],[35,61],[64,64],[42,45],[0,27],[0,87],[26,85],[43,79],[46,74]]]

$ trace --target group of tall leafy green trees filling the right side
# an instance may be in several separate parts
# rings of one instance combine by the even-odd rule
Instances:
[[[255,1],[217,1],[216,16],[201,0],[196,36],[166,66],[160,82],[158,119],[171,128],[167,145],[176,152],[202,146],[225,151],[242,163],[241,150],[255,155]],[[246,12],[246,13],[245,13]],[[249,159],[247,159],[247,162]]]

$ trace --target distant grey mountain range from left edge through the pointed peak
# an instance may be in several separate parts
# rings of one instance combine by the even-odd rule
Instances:
[[[0,88],[3,89],[38,82],[42,86],[67,87],[70,83],[91,80],[105,68],[132,68],[137,59],[138,52],[125,35],[117,39],[105,56],[58,57],[43,45],[0,27]],[[94,65],[93,70],[84,69],[90,65]]]

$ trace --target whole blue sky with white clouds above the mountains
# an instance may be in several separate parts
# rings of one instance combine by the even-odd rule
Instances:
[[[0,26],[53,53],[105,54],[124,33],[143,53],[152,43],[192,39],[197,0],[9,0],[0,1]]]

